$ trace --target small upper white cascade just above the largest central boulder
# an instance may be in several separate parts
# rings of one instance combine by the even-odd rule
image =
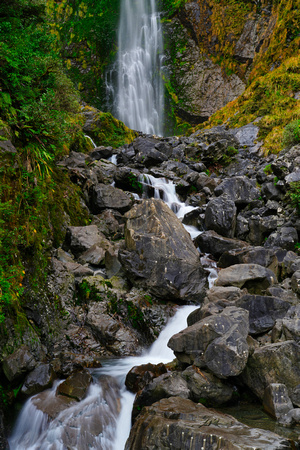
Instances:
[[[181,202],[176,194],[176,186],[165,178],[155,178],[152,175],[143,174],[139,177],[139,182],[143,185],[144,194],[147,197],[160,198],[176,214],[179,219],[183,219],[185,214],[196,209],[194,206]],[[191,225],[184,225],[192,239],[195,239],[201,231]]]

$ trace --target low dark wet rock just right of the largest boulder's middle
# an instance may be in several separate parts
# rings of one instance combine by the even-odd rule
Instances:
[[[219,258],[224,252],[249,246],[247,242],[220,236],[215,231],[204,231],[195,239],[195,245],[203,253]]]

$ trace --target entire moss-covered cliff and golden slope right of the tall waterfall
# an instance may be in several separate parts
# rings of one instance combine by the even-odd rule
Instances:
[[[279,150],[283,128],[298,118],[298,2],[198,0],[171,12],[167,87],[177,115],[199,123],[229,103],[209,126],[263,116],[265,151]]]

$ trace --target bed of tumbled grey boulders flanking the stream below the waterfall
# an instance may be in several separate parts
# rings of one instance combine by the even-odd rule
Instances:
[[[175,361],[135,368],[127,383],[137,394],[126,448],[297,448],[210,409],[251,392],[285,427],[300,420],[300,222],[288,201],[300,147],[264,158],[257,133],[253,123],[189,137],[140,134],[117,150],[58,162],[91,222],[74,227],[65,217],[43,302],[25,305],[43,334],[25,336],[3,359],[19,395],[38,394],[39,408],[39,392],[67,378],[59,405],[45,410],[56,417],[85,398],[88,368],[141,353],[178,305],[193,303],[199,308],[168,344]],[[190,206],[182,222],[179,203],[172,211],[151,177],[172,183]],[[183,224],[198,229],[194,241]],[[218,267],[210,289],[208,260]]]

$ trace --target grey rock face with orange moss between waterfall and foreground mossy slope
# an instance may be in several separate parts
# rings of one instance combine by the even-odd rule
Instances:
[[[167,66],[179,117],[203,122],[244,92],[276,17],[270,4],[258,12],[250,2],[197,0],[166,22]]]

